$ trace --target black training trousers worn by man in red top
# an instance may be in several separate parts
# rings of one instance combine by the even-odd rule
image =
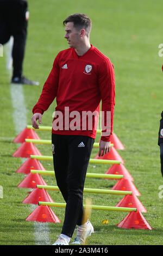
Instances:
[[[66,202],[62,234],[72,237],[84,213],[83,190],[95,139],[87,136],[52,134],[55,178]]]

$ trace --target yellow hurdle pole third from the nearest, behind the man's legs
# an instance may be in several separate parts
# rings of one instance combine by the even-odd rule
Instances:
[[[55,175],[54,170],[30,170],[31,173],[38,173],[41,175]],[[118,174],[101,174],[101,173],[86,173],[89,178],[105,178],[105,179],[122,179],[123,175]]]

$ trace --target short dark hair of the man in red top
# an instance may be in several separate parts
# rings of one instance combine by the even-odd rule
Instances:
[[[76,28],[84,28],[87,33],[91,32],[92,21],[86,14],[71,14],[63,21],[63,25],[66,26],[67,22],[73,22],[73,26]]]

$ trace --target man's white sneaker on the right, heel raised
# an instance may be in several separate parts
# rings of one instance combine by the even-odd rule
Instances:
[[[94,233],[93,226],[90,221],[87,221],[85,227],[78,227],[77,235],[74,241],[72,242],[73,245],[84,245],[86,238],[90,236],[92,233]]]

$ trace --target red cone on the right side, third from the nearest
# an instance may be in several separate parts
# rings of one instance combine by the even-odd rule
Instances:
[[[135,185],[133,184],[132,181],[128,179],[122,178],[119,180],[114,187],[111,188],[111,190],[124,190],[124,191],[132,191],[135,196],[141,196]]]

